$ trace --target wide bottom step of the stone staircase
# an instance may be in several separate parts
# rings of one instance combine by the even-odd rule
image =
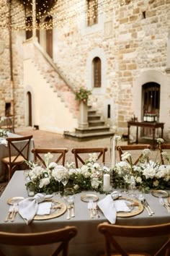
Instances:
[[[76,141],[86,141],[86,140],[96,140],[104,137],[112,137],[114,136],[114,132],[91,132],[88,134],[77,134],[76,132],[64,132],[64,137],[76,140]]]

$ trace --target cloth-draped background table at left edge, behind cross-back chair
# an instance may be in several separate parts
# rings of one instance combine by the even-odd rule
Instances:
[[[13,132],[8,132],[8,137],[22,137],[22,135],[17,135],[16,133]],[[4,138],[2,138],[4,140]],[[17,145],[21,145],[23,142],[14,142],[14,144],[17,143]],[[31,152],[32,148],[34,148],[34,140],[32,138],[30,142],[30,150],[29,150],[29,160],[33,161],[33,154]],[[12,154],[14,155],[14,149],[12,149]],[[9,156],[9,148],[7,147],[7,144],[4,145],[4,143],[1,143],[0,140],[0,182],[4,182],[4,176],[3,176],[3,171],[2,171],[2,163],[1,163],[1,158],[5,158]]]

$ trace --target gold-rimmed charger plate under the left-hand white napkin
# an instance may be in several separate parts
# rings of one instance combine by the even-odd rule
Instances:
[[[56,205],[60,206],[60,208],[51,209],[51,213],[47,214],[47,215],[36,215],[34,220],[36,220],[36,221],[49,220],[50,218],[57,218],[66,212],[67,206],[65,205],[65,203],[58,201],[58,200],[51,200],[51,201],[53,202],[53,204],[55,206]],[[40,203],[43,203],[43,202],[40,202]]]

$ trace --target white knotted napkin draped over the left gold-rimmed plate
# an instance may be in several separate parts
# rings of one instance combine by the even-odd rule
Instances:
[[[25,198],[24,200],[19,202],[19,214],[20,216],[22,216],[22,218],[24,219],[24,221],[29,224],[32,219],[35,217],[35,215],[37,214],[37,210],[38,210],[38,204],[40,202],[43,202],[45,199],[47,198],[51,198],[53,197],[53,195],[43,195],[43,194],[36,194],[34,197],[28,197]],[[44,213],[42,213],[43,210],[43,204],[41,204],[40,206],[40,210],[39,210],[39,214],[47,214],[47,209],[48,209],[48,214],[49,214],[49,206],[51,206],[51,202],[50,204],[48,204],[48,206],[46,205]]]

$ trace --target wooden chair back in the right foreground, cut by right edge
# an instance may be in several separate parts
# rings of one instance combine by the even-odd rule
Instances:
[[[161,247],[155,254],[148,252],[139,252],[138,247],[134,244],[134,252],[128,252],[122,247],[121,242],[117,242],[117,237],[125,238],[151,238],[158,236],[170,235],[170,223],[158,224],[152,226],[122,226],[112,225],[109,223],[100,223],[97,229],[104,235],[105,254],[101,256],[169,256],[170,255],[170,238],[161,244]],[[114,249],[114,250],[113,250]]]

